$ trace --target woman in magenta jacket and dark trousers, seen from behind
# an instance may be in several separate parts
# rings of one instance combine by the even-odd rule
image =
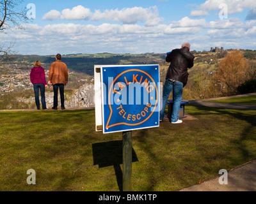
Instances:
[[[42,68],[40,61],[36,61],[34,67],[31,69],[30,80],[33,84],[35,91],[35,101],[37,110],[40,110],[39,89],[41,92],[42,109],[47,109],[45,103],[45,87],[48,87],[48,85],[45,80],[44,68]]]

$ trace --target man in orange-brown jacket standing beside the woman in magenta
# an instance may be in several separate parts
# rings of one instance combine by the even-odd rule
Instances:
[[[60,89],[61,110],[65,110],[64,106],[64,86],[68,84],[68,68],[64,62],[61,62],[61,55],[56,55],[56,61],[52,62],[49,71],[48,84],[53,85],[53,107],[58,109],[58,89]]]

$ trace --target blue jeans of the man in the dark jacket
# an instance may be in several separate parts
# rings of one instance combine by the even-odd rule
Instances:
[[[162,110],[160,111],[160,120],[164,119],[164,110],[172,89],[174,103],[171,122],[177,122],[177,120],[179,120],[180,103],[183,93],[183,83],[177,81],[172,82],[168,79],[165,81],[163,89]]]

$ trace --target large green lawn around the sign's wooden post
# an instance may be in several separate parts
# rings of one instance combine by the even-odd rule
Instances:
[[[256,158],[256,111],[187,106],[198,120],[132,131],[133,191],[177,191]],[[0,191],[120,191],[122,133],[94,110],[0,112]],[[28,185],[27,170],[36,171]]]

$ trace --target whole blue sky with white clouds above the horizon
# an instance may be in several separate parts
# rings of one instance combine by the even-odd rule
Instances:
[[[256,50],[255,0],[24,0],[24,29],[0,33],[19,54],[166,53],[189,42]]]

